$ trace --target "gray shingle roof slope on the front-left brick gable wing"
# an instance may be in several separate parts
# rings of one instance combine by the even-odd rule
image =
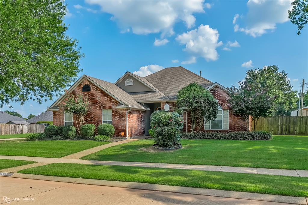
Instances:
[[[91,76],[87,76],[87,77],[90,78],[95,83],[97,83],[103,89],[107,90],[110,94],[118,98],[120,101],[122,101],[124,105],[134,106],[137,108],[146,108],[142,104],[137,103],[130,94],[126,93],[124,90],[122,90],[117,85],[107,82],[107,81],[97,79],[95,77],[91,77]]]

